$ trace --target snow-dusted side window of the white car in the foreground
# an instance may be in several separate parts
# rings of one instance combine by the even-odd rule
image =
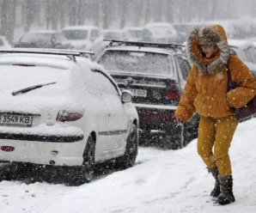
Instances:
[[[96,73],[96,78],[101,83],[101,90],[107,94],[115,94],[119,96],[118,86],[101,70],[93,70]]]

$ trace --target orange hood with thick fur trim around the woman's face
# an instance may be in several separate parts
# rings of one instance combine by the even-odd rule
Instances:
[[[207,38],[219,48],[219,54],[210,63],[205,60],[198,46],[199,38]],[[189,60],[198,67],[201,76],[212,76],[225,69],[229,61],[229,45],[225,30],[220,25],[195,27],[186,40],[186,51]]]

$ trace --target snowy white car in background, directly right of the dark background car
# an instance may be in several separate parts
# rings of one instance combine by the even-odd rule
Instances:
[[[62,28],[61,33],[76,50],[92,51],[97,56],[105,47],[99,27],[69,26]]]

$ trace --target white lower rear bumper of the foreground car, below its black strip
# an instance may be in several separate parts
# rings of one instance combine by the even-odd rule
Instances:
[[[47,138],[49,139],[49,137]],[[15,149],[13,151],[5,151],[2,149],[4,146],[14,147]],[[30,162],[55,166],[79,166],[82,165],[82,152],[85,148],[85,143],[83,140],[67,143],[60,141],[0,139],[0,148],[0,161]]]

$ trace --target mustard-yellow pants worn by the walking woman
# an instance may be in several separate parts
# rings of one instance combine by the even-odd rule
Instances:
[[[200,118],[198,155],[208,168],[217,167],[220,175],[232,175],[229,147],[238,123],[234,116],[219,119],[203,116]]]

